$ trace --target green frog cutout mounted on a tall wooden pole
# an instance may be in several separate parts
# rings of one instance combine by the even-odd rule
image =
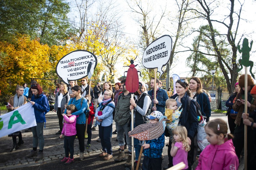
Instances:
[[[253,41],[251,40],[250,47],[249,47],[248,39],[244,38],[242,48],[240,49],[240,45],[239,44],[237,45],[238,52],[242,53],[242,59],[238,60],[241,68],[237,69],[236,71],[239,72],[242,70],[243,66],[245,67],[245,91],[247,91],[247,89],[248,89],[247,67],[250,66],[250,73],[251,73],[251,76],[254,78],[254,75],[251,72],[253,62],[249,60],[249,58],[250,58],[249,52],[251,51],[252,42]],[[248,112],[247,111],[247,100],[248,100],[248,93],[245,93],[245,113]],[[247,170],[247,126],[246,125],[244,125],[244,126],[245,126],[245,129],[244,129],[244,157],[245,157],[244,169]]]

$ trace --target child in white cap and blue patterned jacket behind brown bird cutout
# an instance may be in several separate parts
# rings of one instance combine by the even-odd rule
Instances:
[[[147,116],[149,123],[158,123],[163,114],[159,111],[154,111],[156,114]],[[162,152],[164,147],[164,133],[157,139],[148,140],[144,145],[144,159],[142,170],[161,170],[162,169]]]

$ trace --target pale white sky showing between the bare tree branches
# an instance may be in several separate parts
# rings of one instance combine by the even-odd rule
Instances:
[[[107,0],[108,1],[108,0]],[[150,0],[148,0],[148,2],[151,2]],[[153,12],[152,13],[156,13],[158,11],[161,11],[161,9],[164,8],[164,6],[166,5],[168,9],[172,9],[172,11],[170,12],[170,16],[175,15],[175,4],[174,4],[174,0],[155,0],[152,1],[152,3],[150,4],[150,7],[153,8]],[[228,10],[228,6],[225,5],[225,3],[228,3],[228,0],[225,0],[223,2],[223,6],[220,6],[218,8],[216,8],[214,10],[214,12],[216,12],[215,17],[219,18],[219,17],[223,17],[224,14],[228,14],[229,10]],[[235,1],[235,3],[237,3],[238,1]],[[120,12],[122,13],[120,21],[122,22],[123,26],[124,26],[124,30],[123,33],[125,34],[126,37],[129,38],[129,40],[132,41],[137,41],[138,37],[139,37],[139,31],[141,31],[142,28],[139,27],[138,23],[134,20],[137,17],[136,13],[132,13],[129,6],[127,5],[127,2],[125,0],[118,0],[115,1],[114,3],[118,3],[117,5],[120,7]],[[199,5],[199,4],[198,4]],[[194,6],[195,8],[199,7],[199,6]],[[247,19],[247,21],[244,20],[240,20],[240,24],[239,24],[239,33],[244,33],[244,34],[248,34],[248,33],[252,33],[250,36],[246,36],[249,40],[249,42],[253,39],[254,43],[255,43],[255,32],[254,32],[254,25],[252,23],[255,23],[255,9],[256,8],[256,2],[253,0],[246,0],[243,6],[243,11],[241,14],[241,18],[245,18]],[[164,34],[168,34],[172,37],[172,40],[175,40],[175,37],[172,36],[172,33],[168,30],[172,30],[172,25],[168,24],[169,22],[167,22],[166,19],[163,19],[163,21],[160,23],[160,28],[159,29],[159,37],[164,35]],[[197,21],[193,23],[193,27],[194,28],[198,28],[200,25],[202,25],[204,23],[204,21]],[[205,22],[206,24],[206,22]],[[223,29],[223,27],[219,26],[218,24],[214,24],[215,28],[218,29],[219,31],[223,32],[224,34],[226,34],[226,30],[227,29]],[[165,28],[163,28],[165,27]],[[183,45],[184,46],[192,46],[191,43],[193,41],[193,37],[195,35],[191,35],[189,37],[187,37],[184,42]],[[237,39],[236,39],[236,43],[238,42],[238,39],[240,38],[241,34],[237,35]],[[240,43],[242,44],[242,42]],[[179,50],[184,50],[184,48],[179,47]],[[251,56],[250,56],[250,60],[254,61],[254,63],[256,62],[256,57],[255,57],[255,51],[256,51],[256,43],[253,44],[252,46],[252,50],[251,50]],[[142,53],[141,53],[142,55]],[[170,70],[170,75],[172,74],[178,74],[180,77],[188,77],[191,76],[192,73],[190,72],[190,69],[186,67],[185,61],[186,58],[188,57],[188,55],[190,55],[190,52],[182,52],[179,53],[174,59],[174,62],[171,66],[171,70]],[[238,55],[240,55],[238,53]],[[239,58],[240,56],[238,56]],[[142,58],[142,56],[141,56]],[[136,61],[135,61],[136,64]],[[120,69],[120,67],[123,66],[123,61],[117,61],[116,64],[116,68],[117,69],[117,77],[122,76],[123,75],[123,70],[124,69],[128,69],[128,67],[124,67],[124,69]],[[139,68],[137,68],[138,70]],[[255,69],[253,69],[253,71],[255,72]],[[242,73],[244,73],[244,70],[242,70]],[[103,73],[102,73],[103,74]]]

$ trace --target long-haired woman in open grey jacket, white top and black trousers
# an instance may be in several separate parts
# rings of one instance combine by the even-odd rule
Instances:
[[[55,96],[55,104],[53,112],[57,112],[57,116],[59,119],[59,131],[55,133],[56,135],[60,135],[63,127],[63,110],[65,109],[65,104],[69,103],[69,92],[67,85],[62,83],[59,88],[59,92],[56,93]],[[62,136],[64,138],[64,135]]]

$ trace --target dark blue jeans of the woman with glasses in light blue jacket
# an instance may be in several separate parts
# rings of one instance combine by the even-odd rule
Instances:
[[[112,155],[112,145],[110,141],[110,133],[112,133],[112,125],[101,126],[99,124],[99,138],[102,146],[102,151]]]

